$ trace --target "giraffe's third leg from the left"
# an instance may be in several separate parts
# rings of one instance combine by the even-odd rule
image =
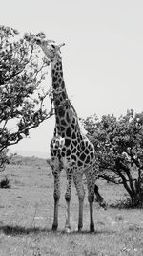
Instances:
[[[76,187],[78,200],[79,200],[79,213],[78,213],[78,231],[81,231],[83,227],[83,205],[85,198],[85,190],[82,183],[82,174],[76,173],[73,176],[74,184]]]

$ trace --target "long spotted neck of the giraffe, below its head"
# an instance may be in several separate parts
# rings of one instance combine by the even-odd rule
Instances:
[[[55,132],[62,137],[71,133],[71,129],[78,126],[78,118],[73,106],[70,103],[65,87],[62,69],[62,59],[59,57],[51,62],[53,104],[55,107]],[[68,131],[67,131],[68,130]],[[68,134],[70,135],[70,134]]]

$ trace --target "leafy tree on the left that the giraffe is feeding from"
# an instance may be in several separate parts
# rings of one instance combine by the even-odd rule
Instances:
[[[44,106],[50,89],[45,91],[41,86],[49,62],[42,57],[36,44],[31,43],[34,36],[27,33],[19,38],[15,29],[0,26],[0,167],[2,168],[7,162],[8,146],[28,136],[31,128],[38,127],[52,114],[51,111],[48,113]],[[43,33],[36,36],[45,38]]]

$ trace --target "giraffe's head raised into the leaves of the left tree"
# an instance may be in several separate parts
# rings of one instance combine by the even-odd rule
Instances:
[[[35,42],[41,47],[50,61],[53,61],[60,56],[60,48],[65,45],[64,43],[57,45],[54,41],[47,41],[41,38],[35,38]]]

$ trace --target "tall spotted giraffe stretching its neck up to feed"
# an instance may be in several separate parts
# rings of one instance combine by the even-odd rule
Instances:
[[[95,150],[86,134],[80,128],[77,113],[71,104],[63,77],[62,57],[60,48],[45,39],[36,38],[38,44],[51,63],[51,80],[53,105],[55,109],[54,136],[51,140],[51,167],[54,177],[54,214],[52,230],[58,227],[58,205],[60,199],[60,174],[64,168],[67,174],[66,224],[67,232],[71,230],[70,202],[72,198],[72,179],[78,195],[78,230],[83,227],[83,203],[85,190],[82,182],[83,174],[87,179],[88,200],[90,205],[90,231],[94,231],[93,200],[94,185],[98,176]]]

